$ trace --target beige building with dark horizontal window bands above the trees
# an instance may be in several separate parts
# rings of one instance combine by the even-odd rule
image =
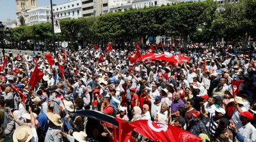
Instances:
[[[108,0],[82,0],[83,17],[99,16],[108,12]]]

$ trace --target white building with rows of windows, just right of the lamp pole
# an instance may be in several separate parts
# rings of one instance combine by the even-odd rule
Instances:
[[[53,17],[58,19],[72,19],[82,17],[81,0],[68,1],[67,3],[52,7]]]

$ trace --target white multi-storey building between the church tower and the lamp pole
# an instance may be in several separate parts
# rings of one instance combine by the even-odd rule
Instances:
[[[51,7],[40,6],[28,10],[29,25],[41,24],[51,22]]]

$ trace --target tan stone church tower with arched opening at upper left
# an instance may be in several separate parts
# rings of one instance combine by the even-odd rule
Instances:
[[[16,0],[17,26],[29,24],[28,10],[37,7],[37,0]]]

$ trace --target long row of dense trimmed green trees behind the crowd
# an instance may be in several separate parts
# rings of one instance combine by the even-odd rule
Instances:
[[[61,33],[56,41],[138,41],[148,36],[180,36],[185,41],[246,39],[255,36],[256,0],[218,6],[214,1],[187,2],[175,5],[108,13],[100,17],[61,20]],[[199,30],[202,29],[202,30]],[[52,40],[51,24],[38,24],[12,29],[10,41]]]

